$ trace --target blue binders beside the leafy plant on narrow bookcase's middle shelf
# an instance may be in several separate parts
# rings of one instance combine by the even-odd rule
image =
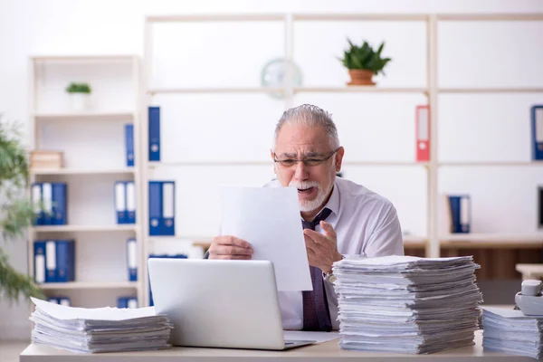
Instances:
[[[68,186],[66,183],[38,182],[31,187],[34,225],[68,224]]]

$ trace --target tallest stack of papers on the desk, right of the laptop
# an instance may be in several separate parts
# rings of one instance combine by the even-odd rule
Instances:
[[[415,354],[474,344],[479,267],[471,256],[335,262],[340,347]]]

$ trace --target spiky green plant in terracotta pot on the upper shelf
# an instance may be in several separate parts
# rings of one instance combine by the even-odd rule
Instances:
[[[373,76],[378,73],[385,74],[383,69],[390,62],[390,58],[382,58],[381,52],[385,47],[385,42],[381,43],[379,48],[374,49],[364,41],[362,46],[353,44],[349,39],[349,48],[344,52],[343,58],[339,61],[348,69],[351,81],[348,85],[375,85]]]

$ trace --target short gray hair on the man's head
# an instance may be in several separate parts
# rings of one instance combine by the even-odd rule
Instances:
[[[330,147],[336,149],[339,147],[338,129],[332,120],[332,115],[326,110],[322,110],[312,104],[302,104],[301,106],[285,110],[275,126],[275,134],[273,135],[273,149],[277,143],[277,136],[283,125],[303,125],[316,127],[320,126],[329,137]]]

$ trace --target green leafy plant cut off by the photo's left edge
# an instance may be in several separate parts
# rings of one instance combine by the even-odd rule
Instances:
[[[17,127],[0,119],[0,233],[5,242],[26,243],[24,231],[32,224],[34,213],[30,199],[24,195],[27,176],[27,155]],[[16,302],[21,295],[44,298],[33,278],[9,263],[0,245],[0,299]]]

